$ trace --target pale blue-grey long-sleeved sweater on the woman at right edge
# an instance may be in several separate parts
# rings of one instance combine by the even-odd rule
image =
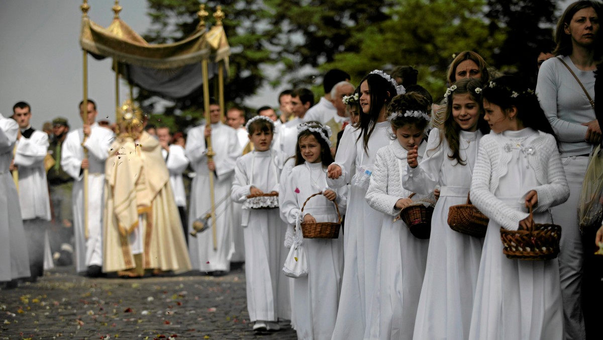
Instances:
[[[560,141],[561,157],[584,155],[590,152],[591,146],[586,142],[588,128],[581,124],[595,120],[595,110],[559,58],[546,60],[540,67],[536,94]],[[596,100],[595,71],[579,70],[569,56],[562,59],[582,82],[590,97]]]

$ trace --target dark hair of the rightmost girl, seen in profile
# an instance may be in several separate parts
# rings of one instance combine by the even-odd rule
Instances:
[[[484,100],[500,106],[505,115],[511,107],[516,107],[517,119],[523,126],[549,133],[557,140],[545,111],[540,107],[538,97],[534,91],[528,89],[526,82],[514,75],[503,75],[492,82],[493,87],[484,88]]]

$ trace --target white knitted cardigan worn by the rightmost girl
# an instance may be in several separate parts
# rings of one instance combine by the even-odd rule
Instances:
[[[473,168],[471,201],[482,213],[505,229],[517,230],[519,221],[528,217],[528,213],[511,208],[494,196],[499,179],[507,173],[512,158],[512,153],[505,151],[507,143],[508,140],[502,135],[493,132],[482,137],[478,159]],[[541,213],[565,202],[569,197],[569,187],[555,138],[548,133],[539,132],[530,146],[535,151],[527,155],[528,163],[538,181],[538,185],[532,189],[538,194],[534,213]]]

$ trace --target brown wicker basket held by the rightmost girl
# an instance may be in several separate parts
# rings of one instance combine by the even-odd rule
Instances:
[[[552,223],[534,223],[532,207],[529,207],[529,217],[532,220],[529,229],[500,228],[503,254],[518,260],[551,260],[557,257],[561,226]]]

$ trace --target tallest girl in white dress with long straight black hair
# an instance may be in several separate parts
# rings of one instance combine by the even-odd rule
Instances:
[[[333,339],[362,339],[370,314],[376,274],[382,214],[364,199],[377,150],[390,144],[387,104],[397,91],[396,81],[383,71],[370,72],[360,83],[360,121],[344,130],[335,162],[329,165],[327,184],[341,188],[351,182],[344,254],[346,263],[341,303]]]

